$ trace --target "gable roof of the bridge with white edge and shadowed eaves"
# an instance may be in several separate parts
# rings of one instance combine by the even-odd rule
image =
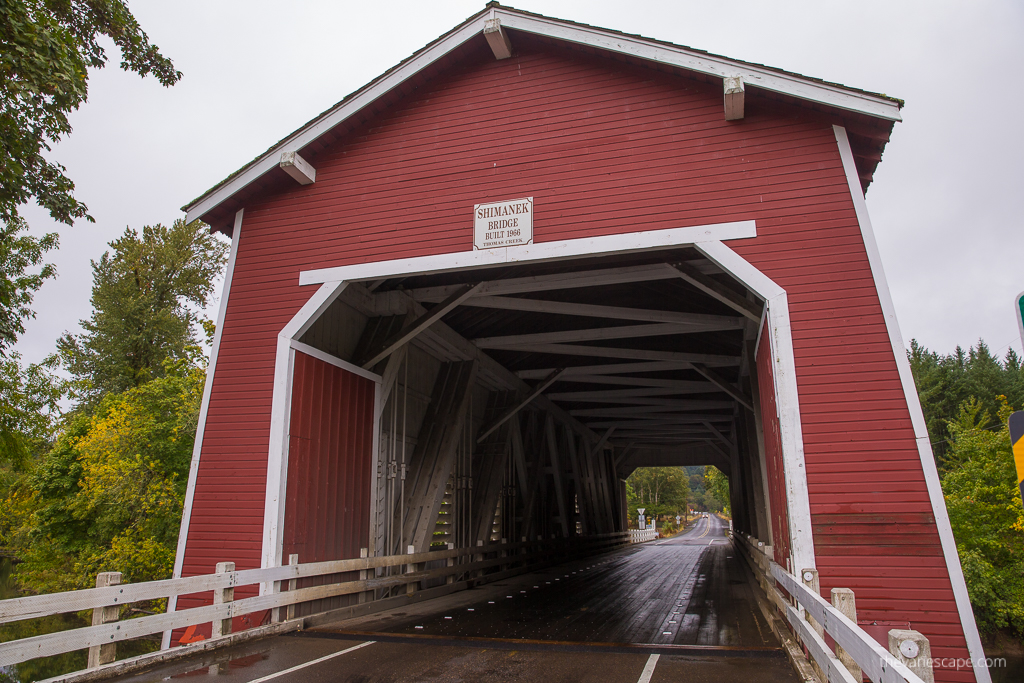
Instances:
[[[233,216],[237,208],[241,208],[240,196],[250,196],[264,184],[268,174],[279,167],[282,154],[307,150],[324,138],[335,139],[331,134],[332,131],[368,106],[387,98],[407,82],[447,61],[466,43],[481,36],[484,25],[493,19],[497,19],[503,29],[511,30],[513,35],[514,32],[521,31],[709,78],[725,79],[738,76],[742,78],[745,86],[776,93],[785,98],[804,100],[823,109],[876,119],[880,123],[887,123],[890,129],[894,122],[901,120],[899,111],[903,106],[903,101],[896,97],[651,38],[551,18],[492,1],[482,11],[470,16],[452,31],[352,92],[182,207],[186,212],[186,220],[202,218],[213,225],[214,229],[230,234],[229,217]],[[885,133],[881,146],[884,146],[887,140],[888,133]],[[880,147],[878,144],[874,146]],[[881,159],[881,147],[869,153],[867,158],[873,161],[873,164],[869,170],[861,173],[861,182],[865,188],[866,183],[870,181],[874,164]]]

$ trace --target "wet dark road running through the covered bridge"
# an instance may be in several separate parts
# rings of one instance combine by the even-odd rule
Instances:
[[[118,680],[797,681],[725,526]]]

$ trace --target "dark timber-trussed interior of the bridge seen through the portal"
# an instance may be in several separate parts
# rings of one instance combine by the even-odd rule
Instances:
[[[735,530],[787,537],[765,302],[699,250],[338,290],[292,343],[282,563],[626,531],[650,467],[715,466]]]

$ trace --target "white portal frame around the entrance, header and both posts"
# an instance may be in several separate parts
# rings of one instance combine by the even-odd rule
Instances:
[[[777,352],[773,354],[775,360],[773,376],[775,378],[776,401],[779,407],[780,431],[783,437],[782,452],[790,506],[790,543],[794,562],[800,568],[813,568],[815,566],[814,540],[810,525],[810,500],[804,465],[803,432],[800,422],[800,402],[797,393],[796,360],[793,354],[788,301],[785,291],[781,287],[722,242],[723,240],[751,239],[756,236],[757,228],[753,220],[736,221],[545,242],[494,250],[419,256],[302,271],[299,275],[300,284],[318,284],[321,287],[285,326],[278,337],[270,417],[270,445],[267,459],[262,566],[280,566],[283,560],[284,545],[281,530],[284,526],[284,501],[288,478],[288,429],[291,417],[296,340],[327,310],[349,283],[399,275],[411,276],[471,270],[499,264],[563,261],[597,255],[694,247],[767,302],[768,312],[766,314],[774,335],[773,347],[777,349]],[[351,364],[346,364],[346,367],[355,368]],[[361,372],[366,373],[366,371]],[[379,412],[378,410],[375,413]],[[376,439],[379,438],[376,433],[379,431],[378,425],[375,424],[374,428],[374,458],[376,459],[378,450]]]

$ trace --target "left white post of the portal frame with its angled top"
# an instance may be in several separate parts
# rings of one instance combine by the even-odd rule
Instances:
[[[270,404],[270,445],[266,462],[266,497],[263,505],[263,546],[261,567],[281,566],[282,528],[285,523],[285,494],[288,482],[288,421],[292,404],[292,376],[295,349],[292,343],[309,329],[345,289],[345,283],[324,283],[278,334],[273,367],[273,398]],[[271,586],[260,586],[260,594]]]

